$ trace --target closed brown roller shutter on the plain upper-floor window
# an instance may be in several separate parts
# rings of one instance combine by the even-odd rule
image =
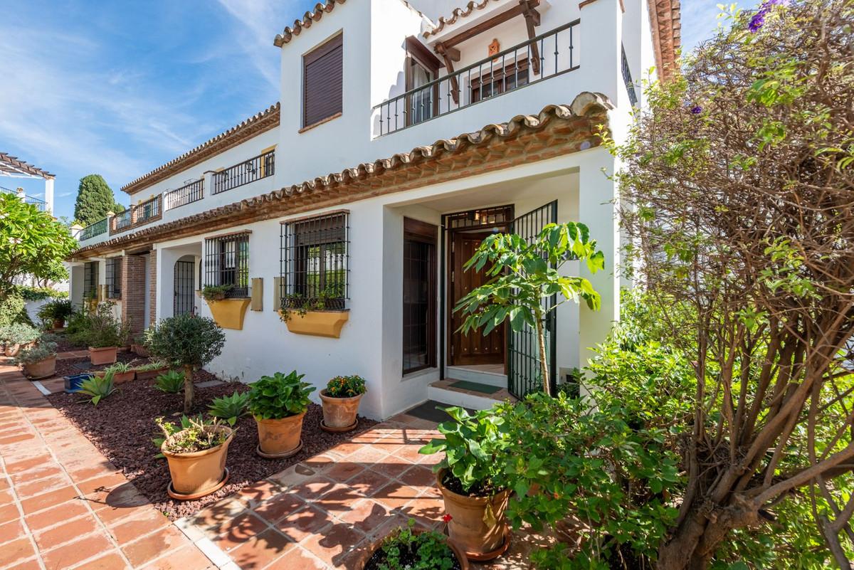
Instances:
[[[342,112],[343,35],[302,57],[302,126],[309,126]]]

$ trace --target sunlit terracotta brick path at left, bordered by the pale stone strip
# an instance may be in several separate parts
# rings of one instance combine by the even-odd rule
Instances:
[[[216,567],[32,382],[0,364],[0,570]]]

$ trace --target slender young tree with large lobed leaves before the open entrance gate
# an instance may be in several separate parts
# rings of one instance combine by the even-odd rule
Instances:
[[[584,277],[564,276],[560,268],[569,261],[583,260],[595,273],[605,267],[605,255],[589,239],[588,227],[567,222],[548,224],[534,241],[528,243],[516,234],[489,236],[466,262],[464,270],[487,270],[489,281],[465,295],[454,311],[462,311],[465,320],[459,328],[464,334],[483,328],[486,336],[506,320],[514,332],[534,327],[540,349],[543,390],[551,394],[546,357],[546,317],[568,300],[583,299],[588,307],[599,310],[600,295]],[[551,307],[543,300],[559,294]]]

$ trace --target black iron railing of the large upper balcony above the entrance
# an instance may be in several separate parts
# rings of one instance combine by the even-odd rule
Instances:
[[[373,108],[379,136],[575,71],[580,23],[571,21],[380,103]]]

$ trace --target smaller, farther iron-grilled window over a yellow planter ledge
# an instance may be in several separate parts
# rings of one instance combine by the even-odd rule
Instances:
[[[203,285],[231,285],[226,298],[249,297],[248,231],[205,240]]]

